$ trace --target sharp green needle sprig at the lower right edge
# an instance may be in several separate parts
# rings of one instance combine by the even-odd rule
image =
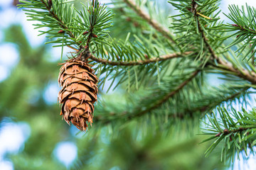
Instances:
[[[255,145],[255,121],[256,110],[252,109],[249,113],[242,108],[242,112],[235,111],[234,108],[231,111],[227,111],[225,108],[218,108],[218,115],[213,113],[213,116],[209,116],[206,121],[206,128],[204,128],[203,134],[211,135],[208,140],[215,140],[213,144],[206,150],[206,156],[213,152],[213,149],[223,141],[221,160],[225,160],[225,155],[231,154],[232,159],[235,159],[235,154],[240,152],[253,152],[252,146]],[[249,150],[250,148],[250,150]]]

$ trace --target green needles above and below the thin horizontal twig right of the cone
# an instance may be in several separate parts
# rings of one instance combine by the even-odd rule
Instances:
[[[93,62],[97,67],[97,75],[105,74],[105,77],[100,81],[100,84],[105,84],[106,80],[117,81],[117,85],[114,89],[122,83],[126,83],[127,89],[131,86],[149,86],[152,82],[159,81],[164,77],[166,72],[159,72],[159,70],[167,69],[166,66],[172,65],[178,67],[181,60],[164,60],[159,62],[148,62],[144,64],[144,60],[151,60],[153,58],[161,58],[165,54],[173,53],[175,50],[169,49],[166,46],[169,42],[166,40],[157,40],[150,35],[149,40],[146,38],[139,38],[135,36],[135,41],[129,41],[129,35],[126,40],[114,40],[108,45],[96,45],[96,56],[100,59],[116,62],[117,64],[102,64]],[[182,55],[179,57],[183,57]],[[138,64],[129,64],[132,61],[139,61]],[[127,63],[126,65],[120,64],[120,62]],[[180,67],[181,68],[181,67]],[[186,68],[189,69],[187,66]],[[167,70],[166,70],[167,71]],[[173,70],[174,71],[174,70]],[[171,72],[171,70],[169,70]],[[169,74],[171,76],[171,74]],[[119,77],[119,79],[117,79]],[[131,83],[134,82],[134,83]],[[110,86],[111,87],[111,86]]]

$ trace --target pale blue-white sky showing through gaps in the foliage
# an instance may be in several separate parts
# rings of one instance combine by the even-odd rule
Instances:
[[[23,25],[23,30],[26,32],[29,42],[32,47],[41,45],[45,38],[43,36],[37,36],[38,30],[34,30],[32,23],[33,21],[26,21],[26,16],[23,11],[17,11],[16,8],[11,7],[12,0],[0,0],[0,82],[4,81],[11,72],[16,64],[18,63],[18,51],[16,47],[11,43],[3,43],[3,33],[2,30],[7,28],[11,23],[21,23]],[[107,1],[101,1],[102,3],[107,3]],[[256,7],[256,1],[253,0],[223,0],[221,1],[220,8],[224,13],[228,12],[228,4],[237,4],[239,6],[245,5],[247,3],[250,6]],[[225,21],[228,21],[223,13],[220,13],[220,18]],[[50,61],[55,62],[60,59],[61,48],[52,48]],[[64,53],[68,52],[68,49],[64,50]],[[55,104],[57,94],[59,91],[58,84],[55,82],[50,82],[46,88],[45,93],[43,94],[46,103],[49,105]],[[4,119],[0,123],[0,169],[3,170],[13,170],[14,165],[10,160],[4,159],[4,154],[6,153],[18,153],[23,149],[24,142],[28,139],[30,135],[30,127],[27,123],[13,123],[8,118]],[[53,150],[53,154],[57,159],[62,162],[65,166],[69,166],[77,157],[77,147],[73,142],[63,141],[58,143]],[[68,157],[61,157],[63,155],[68,155]],[[65,159],[64,159],[65,158]],[[242,169],[255,169],[256,166],[256,157],[250,156],[250,159],[247,160],[247,164],[244,164],[244,161],[235,162],[235,169],[238,169],[239,166]]]

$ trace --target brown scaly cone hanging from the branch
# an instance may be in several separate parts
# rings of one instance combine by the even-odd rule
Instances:
[[[97,77],[94,70],[86,62],[68,60],[60,67],[58,82],[62,89],[58,101],[63,104],[60,115],[70,125],[73,123],[84,131],[86,122],[92,125],[93,103],[97,101]]]

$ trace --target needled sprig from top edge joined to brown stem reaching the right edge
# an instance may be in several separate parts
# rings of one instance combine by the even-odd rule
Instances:
[[[227,72],[229,74],[235,74],[237,77],[250,81],[252,84],[256,83],[255,68],[250,66],[252,71],[244,69],[244,67],[238,66],[239,64],[235,64],[230,57],[225,57],[227,60],[223,60],[217,55],[216,52],[218,52],[218,49],[221,50],[218,54],[223,54],[225,51],[223,50],[223,47],[221,47],[221,43],[223,43],[223,41],[219,40],[221,35],[215,35],[212,32],[216,29],[213,26],[220,27],[217,23],[217,15],[219,12],[213,14],[214,11],[218,10],[218,6],[216,6],[215,1],[203,1],[202,4],[198,4],[198,1],[195,0],[182,1],[181,3],[180,1],[177,1],[177,3],[170,3],[183,12],[182,15],[174,16],[179,18],[175,20],[178,23],[174,23],[173,27],[176,28],[177,33],[185,32],[181,38],[177,39],[180,43],[182,42],[181,47],[184,46],[184,44],[188,45],[191,50],[196,50],[200,47],[201,51],[198,52],[200,55],[199,59],[203,61],[206,60],[206,65],[210,65],[215,68],[217,67],[218,69],[222,69],[223,72]],[[198,10],[203,14],[199,14]],[[208,16],[211,16],[211,18]],[[194,18],[194,20],[192,21],[191,18]],[[201,26],[201,21],[206,25]],[[196,22],[196,26],[192,25],[194,22]],[[212,26],[212,28],[208,28],[207,26]],[[196,38],[195,35],[198,35],[198,33],[200,33],[201,36]],[[206,34],[209,38],[206,37]],[[210,40],[212,40],[214,44],[210,43]],[[206,51],[210,53],[210,57],[208,57],[208,52]],[[247,68],[247,66],[245,66],[245,68]]]

